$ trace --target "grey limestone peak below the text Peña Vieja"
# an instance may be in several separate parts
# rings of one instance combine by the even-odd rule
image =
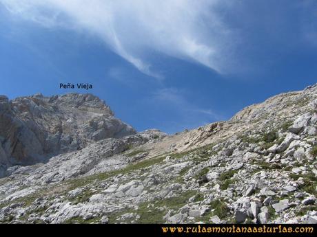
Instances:
[[[91,94],[37,94],[12,101],[0,96],[2,173],[11,165],[32,164],[51,155],[81,150],[101,139],[135,133]]]

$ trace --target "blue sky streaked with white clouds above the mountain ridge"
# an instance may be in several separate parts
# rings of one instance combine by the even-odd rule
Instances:
[[[138,131],[227,120],[317,82],[317,1],[0,0],[0,82],[93,93]]]

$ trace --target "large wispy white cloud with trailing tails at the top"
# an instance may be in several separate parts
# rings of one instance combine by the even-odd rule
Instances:
[[[231,32],[216,8],[226,0],[0,0],[14,16],[101,38],[144,74],[161,78],[150,52],[225,70]]]

